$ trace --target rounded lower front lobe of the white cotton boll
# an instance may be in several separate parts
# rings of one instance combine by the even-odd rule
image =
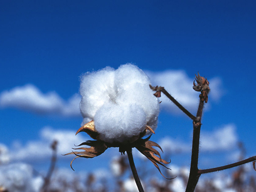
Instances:
[[[145,130],[146,114],[137,104],[104,104],[94,117],[95,129],[106,142],[129,142]]]

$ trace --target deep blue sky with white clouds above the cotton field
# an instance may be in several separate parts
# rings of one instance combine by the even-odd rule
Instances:
[[[18,149],[24,155],[32,146],[37,151],[30,158],[17,155],[13,161],[32,163],[40,157],[36,147],[47,148],[55,135],[65,140],[60,153],[69,152],[79,143],[74,138],[88,139],[84,134],[66,142],[82,121],[76,105],[79,76],[132,62],[153,84],[158,83],[155,86],[165,87],[194,112],[198,104],[192,91],[194,74],[199,71],[209,79],[212,90],[202,121],[202,166],[232,162],[229,157],[237,154],[237,141],[244,143],[247,156],[255,155],[255,8],[253,1],[2,2],[0,143],[12,156]],[[169,139],[174,151],[182,146],[181,154],[171,152],[172,163],[188,164],[192,124],[161,99],[159,126],[152,140]],[[72,144],[63,148],[65,143]],[[41,153],[46,154],[49,151]],[[95,164],[108,159],[108,154],[84,161]],[[222,161],[216,161],[220,157]],[[61,166],[69,166],[70,159],[60,159]],[[37,158],[37,162],[47,160]]]

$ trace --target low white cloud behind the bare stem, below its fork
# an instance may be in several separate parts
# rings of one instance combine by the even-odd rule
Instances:
[[[237,146],[238,136],[236,134],[236,126],[227,124],[212,132],[202,131],[200,136],[200,151],[214,152],[231,150]],[[191,144],[165,137],[160,140],[159,145],[164,153],[188,153],[191,151]]]

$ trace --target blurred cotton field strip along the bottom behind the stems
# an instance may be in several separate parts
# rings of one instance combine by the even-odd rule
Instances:
[[[189,167],[168,165],[172,170],[165,170],[166,180],[156,177],[155,169],[148,168],[150,162],[137,159],[138,170],[145,191],[183,192],[189,174]],[[251,165],[233,169],[230,173],[220,172],[202,177],[195,191],[197,192],[253,192],[255,177],[250,174]],[[45,173],[38,173],[25,163],[6,163],[0,165],[0,191],[41,192]],[[96,169],[91,173],[73,172],[69,168],[56,168],[53,172],[49,192],[137,192],[137,186],[126,156],[112,158],[109,169]]]

